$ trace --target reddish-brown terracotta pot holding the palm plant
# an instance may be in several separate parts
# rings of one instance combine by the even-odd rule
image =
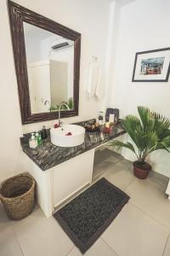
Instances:
[[[134,175],[138,178],[144,179],[148,176],[151,170],[151,166],[144,162],[143,165],[139,164],[138,161],[133,162],[133,172]]]

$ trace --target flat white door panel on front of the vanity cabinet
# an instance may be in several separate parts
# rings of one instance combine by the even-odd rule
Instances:
[[[92,182],[94,149],[54,167],[54,207]]]

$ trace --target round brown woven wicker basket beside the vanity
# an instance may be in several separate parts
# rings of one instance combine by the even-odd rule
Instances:
[[[0,199],[8,218],[19,220],[28,216],[34,207],[36,182],[29,173],[5,180],[0,188]]]

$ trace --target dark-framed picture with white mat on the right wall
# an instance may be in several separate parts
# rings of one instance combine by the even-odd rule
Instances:
[[[170,73],[170,48],[137,52],[133,82],[167,82]]]

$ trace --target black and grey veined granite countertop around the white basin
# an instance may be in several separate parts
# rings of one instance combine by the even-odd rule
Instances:
[[[79,122],[77,125],[84,126],[86,123],[94,122],[94,119]],[[71,148],[58,147],[51,143],[48,130],[48,138],[42,141],[42,145],[37,148],[29,147],[30,133],[24,134],[20,138],[20,143],[23,151],[39,166],[42,171],[46,171],[49,168],[59,165],[66,160],[82,154],[92,148],[96,148],[103,143],[110,141],[111,139],[121,136],[126,133],[122,129],[120,122],[113,128],[111,133],[104,133],[102,131],[86,131],[85,141],[82,145]]]

